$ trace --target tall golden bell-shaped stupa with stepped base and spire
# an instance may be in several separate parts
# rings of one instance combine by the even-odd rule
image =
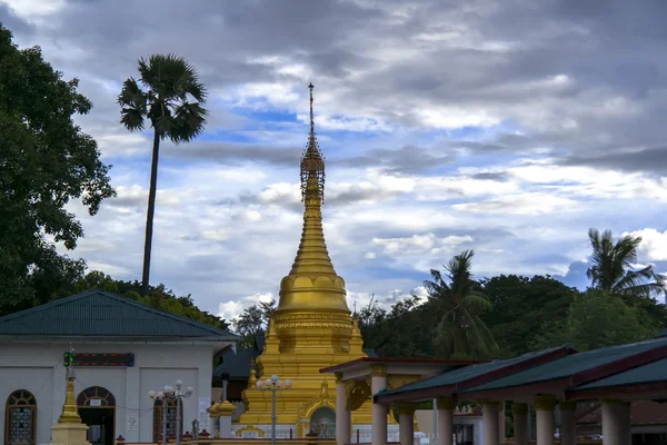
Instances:
[[[288,276],[280,281],[280,298],[268,326],[265,347],[257,357],[243,392],[246,412],[237,424],[247,431],[271,424],[271,394],[255,385],[272,375],[290,379],[288,390],[276,394],[277,425],[296,427],[303,437],[312,414],[321,407],[336,409],[336,378],[322,375],[327,366],[366,357],[356,316],[346,301],[345,280],[336,274],[322,231],[325,159],[315,136],[312,85],[310,134],[301,157],[303,230],[299,250]],[[352,425],[370,425],[370,399],[355,406]]]

